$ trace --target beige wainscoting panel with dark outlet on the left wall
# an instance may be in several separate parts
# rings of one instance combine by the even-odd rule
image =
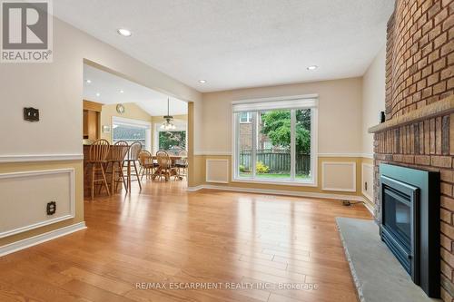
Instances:
[[[74,169],[0,174],[0,192],[0,238],[74,218]]]

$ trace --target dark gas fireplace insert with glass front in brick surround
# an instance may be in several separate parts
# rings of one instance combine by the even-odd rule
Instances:
[[[439,173],[380,164],[380,237],[429,297],[439,297]]]

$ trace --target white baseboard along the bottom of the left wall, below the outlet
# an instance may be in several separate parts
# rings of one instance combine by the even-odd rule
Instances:
[[[27,239],[22,239],[19,241],[15,241],[13,243],[7,244],[5,246],[0,247],[0,257],[14,253],[18,250],[30,248],[40,243],[57,239],[59,237],[63,237],[65,235],[74,233],[78,230],[86,229],[85,222],[75,223],[73,225],[61,228],[61,229],[54,229],[44,234],[36,235],[34,237],[30,237]]]

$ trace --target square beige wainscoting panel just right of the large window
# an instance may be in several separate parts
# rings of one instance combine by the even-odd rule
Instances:
[[[356,191],[356,162],[321,161],[321,190]]]

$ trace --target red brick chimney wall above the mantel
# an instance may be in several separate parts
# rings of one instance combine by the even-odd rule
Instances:
[[[454,91],[454,2],[397,0],[388,23],[387,119]]]

